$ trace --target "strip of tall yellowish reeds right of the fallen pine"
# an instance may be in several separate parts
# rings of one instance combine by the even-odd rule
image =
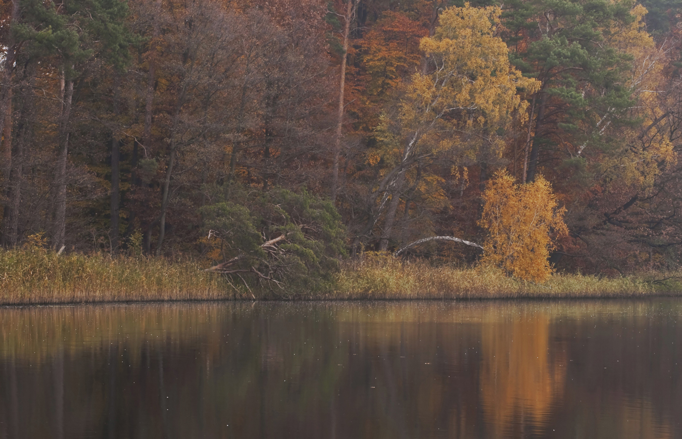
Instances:
[[[651,276],[649,276],[651,277]],[[348,262],[338,276],[335,299],[496,299],[644,297],[677,294],[645,276],[600,278],[554,274],[544,284],[514,279],[494,267],[457,269],[427,262],[366,256]]]

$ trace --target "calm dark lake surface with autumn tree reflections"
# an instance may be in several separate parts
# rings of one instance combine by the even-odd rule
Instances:
[[[682,301],[0,308],[0,438],[682,438]]]

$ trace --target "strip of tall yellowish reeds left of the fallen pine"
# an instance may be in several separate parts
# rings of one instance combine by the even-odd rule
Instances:
[[[191,261],[0,250],[0,304],[230,299],[224,279]]]

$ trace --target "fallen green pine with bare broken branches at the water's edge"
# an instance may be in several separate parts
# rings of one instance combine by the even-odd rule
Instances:
[[[344,230],[331,202],[305,190],[246,192],[234,186],[225,192],[201,211],[207,256],[224,261],[205,271],[248,290],[278,287],[286,294],[323,290],[333,282],[344,254]]]

